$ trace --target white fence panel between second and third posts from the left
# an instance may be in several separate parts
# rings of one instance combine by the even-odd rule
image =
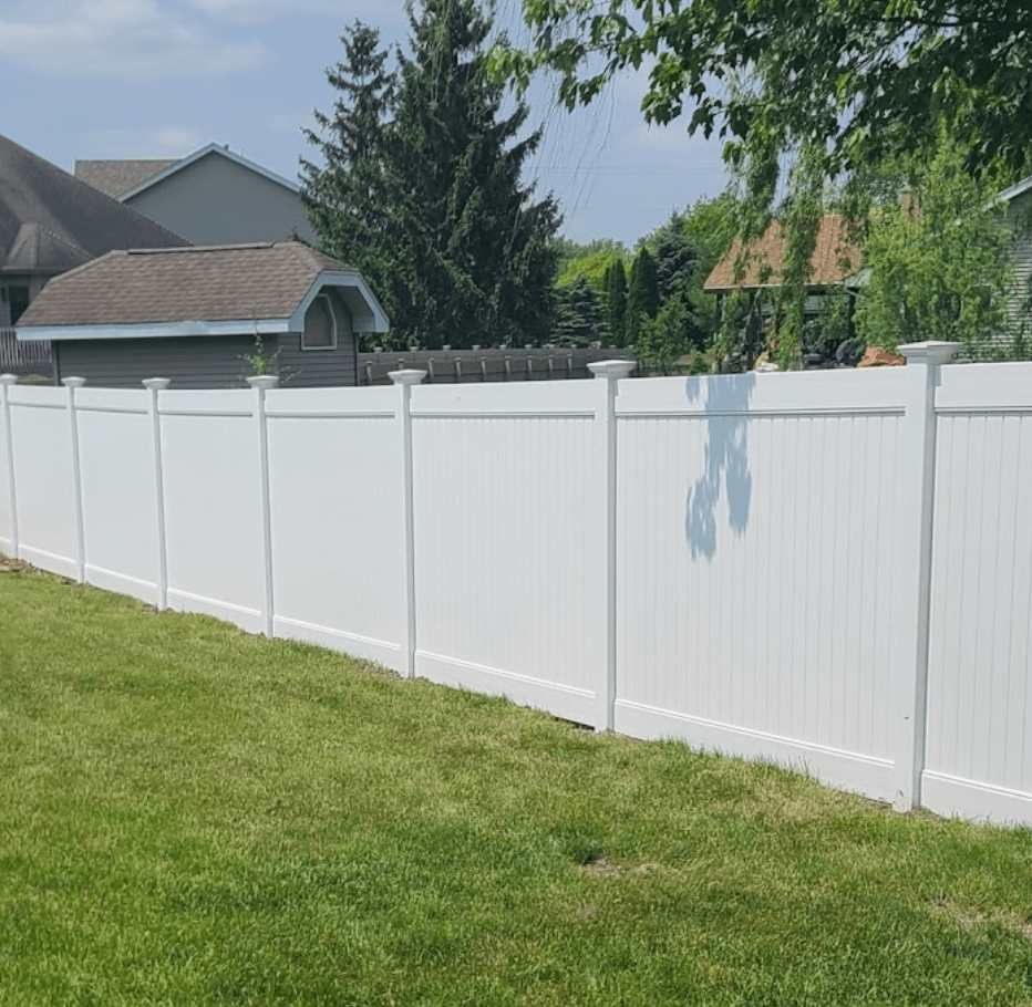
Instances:
[[[85,577],[156,604],[157,500],[148,393],[76,393]]]

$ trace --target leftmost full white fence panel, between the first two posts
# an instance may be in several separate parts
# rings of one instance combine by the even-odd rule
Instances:
[[[69,391],[8,388],[14,442],[19,556],[79,577],[76,490],[69,422]]]

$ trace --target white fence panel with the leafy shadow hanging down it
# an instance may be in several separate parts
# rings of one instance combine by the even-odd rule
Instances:
[[[892,796],[901,376],[621,385],[619,730]]]

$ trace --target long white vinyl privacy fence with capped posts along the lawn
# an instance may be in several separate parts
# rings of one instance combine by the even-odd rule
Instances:
[[[518,385],[0,378],[0,549],[596,728],[1032,822],[1032,364],[942,366],[953,349]]]

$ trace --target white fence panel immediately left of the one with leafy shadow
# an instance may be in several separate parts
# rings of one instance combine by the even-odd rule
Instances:
[[[607,393],[413,388],[417,674],[605,726]]]

